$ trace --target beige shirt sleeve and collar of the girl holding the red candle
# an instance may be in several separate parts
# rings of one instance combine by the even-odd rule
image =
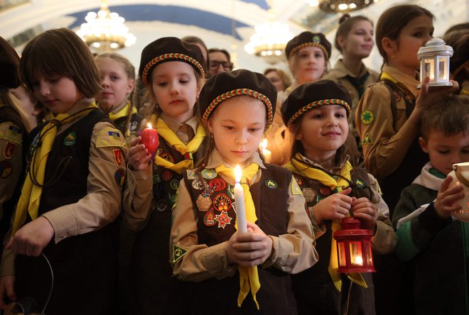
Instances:
[[[186,145],[192,140],[199,124],[197,116],[193,116],[185,123],[180,123],[163,113],[160,114],[159,118]],[[124,210],[122,211],[122,219],[131,230],[139,231],[146,226],[150,212],[156,209],[153,200],[153,167],[146,167],[140,171],[134,171],[127,167],[126,181],[122,201],[122,209]]]

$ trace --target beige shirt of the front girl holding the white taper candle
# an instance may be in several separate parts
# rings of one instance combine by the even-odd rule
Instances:
[[[252,184],[259,181],[262,169],[265,168],[259,155],[252,157],[252,162],[259,165],[259,172],[252,179]],[[214,169],[224,163],[220,153],[215,149],[207,163],[207,168]],[[228,183],[233,179],[223,177]],[[293,176],[291,177],[293,179]],[[296,182],[294,182],[296,184]],[[269,236],[272,239],[270,257],[261,265],[274,266],[284,272],[298,273],[308,269],[318,261],[318,253],[314,248],[314,238],[305,209],[305,199],[301,194],[291,194],[285,203],[289,212],[287,231],[289,234]],[[198,244],[197,222],[195,221],[194,205],[184,180],[180,181],[178,201],[173,209],[173,227],[170,243],[188,250],[183,258],[176,262],[173,273],[186,281],[203,281],[215,277],[221,280],[231,277],[237,270],[236,265],[228,265],[226,256],[227,242],[208,247]],[[173,252],[170,250],[170,260]]]

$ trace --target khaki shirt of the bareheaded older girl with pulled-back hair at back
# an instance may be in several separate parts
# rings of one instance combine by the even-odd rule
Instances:
[[[358,101],[360,101],[360,97],[365,92],[367,87],[377,82],[379,78],[379,73],[367,69],[362,62],[362,67],[360,68],[360,74],[358,77],[355,77],[344,65],[342,59],[339,59],[335,63],[335,67],[330,72],[326,73],[321,77],[321,79],[330,79],[334,82],[338,82],[342,84],[345,89],[347,89],[348,93],[350,94],[350,98],[352,99],[351,111],[350,111],[350,120],[349,120],[349,128],[354,133],[354,136],[357,137],[357,131],[355,131],[355,111],[357,109]],[[356,81],[356,82],[355,82]],[[359,85],[361,87],[360,91],[355,87],[355,85]]]

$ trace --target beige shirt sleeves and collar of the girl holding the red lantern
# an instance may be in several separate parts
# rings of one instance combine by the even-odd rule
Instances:
[[[301,155],[301,157],[303,161],[307,162],[308,164],[317,166],[321,169],[323,168],[318,163],[309,160],[304,155]],[[346,159],[343,162],[343,165],[345,165],[345,162],[347,162],[347,160],[348,159]],[[397,245],[397,235],[394,232],[394,228],[392,228],[391,220],[389,219],[389,208],[386,202],[384,202],[384,200],[382,199],[381,188],[379,188],[377,179],[374,178],[374,176],[371,174],[368,174],[368,178],[370,179],[370,185],[371,185],[371,189],[373,192],[373,199],[370,201],[378,209],[378,219],[376,221],[376,232],[374,233],[374,236],[372,236],[372,239],[371,239],[373,248],[377,250],[377,252],[380,254],[392,253],[392,251],[394,250],[394,248],[396,248],[396,245]],[[318,239],[321,236],[323,236],[326,231],[325,223],[321,223],[318,226],[318,224],[316,223],[316,216],[314,213],[313,206],[308,207],[308,210],[309,210],[311,223],[313,223],[314,237]]]

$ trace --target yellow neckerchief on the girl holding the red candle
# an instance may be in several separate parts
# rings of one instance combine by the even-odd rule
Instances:
[[[198,150],[200,144],[202,144],[203,139],[206,136],[205,128],[203,128],[202,123],[199,123],[194,138],[190,140],[187,145],[185,145],[183,141],[181,141],[178,136],[176,136],[176,133],[174,133],[171,128],[166,125],[163,119],[158,118],[154,114],[151,115],[151,125],[156,126],[156,130],[158,131],[158,134],[161,136],[161,138],[166,140],[169,145],[175,148],[185,158],[185,160],[174,164],[173,162],[169,162],[168,160],[163,159],[163,157],[156,155],[155,165],[165,167],[168,170],[177,172],[178,174],[181,174],[185,170],[193,168],[193,153]]]

